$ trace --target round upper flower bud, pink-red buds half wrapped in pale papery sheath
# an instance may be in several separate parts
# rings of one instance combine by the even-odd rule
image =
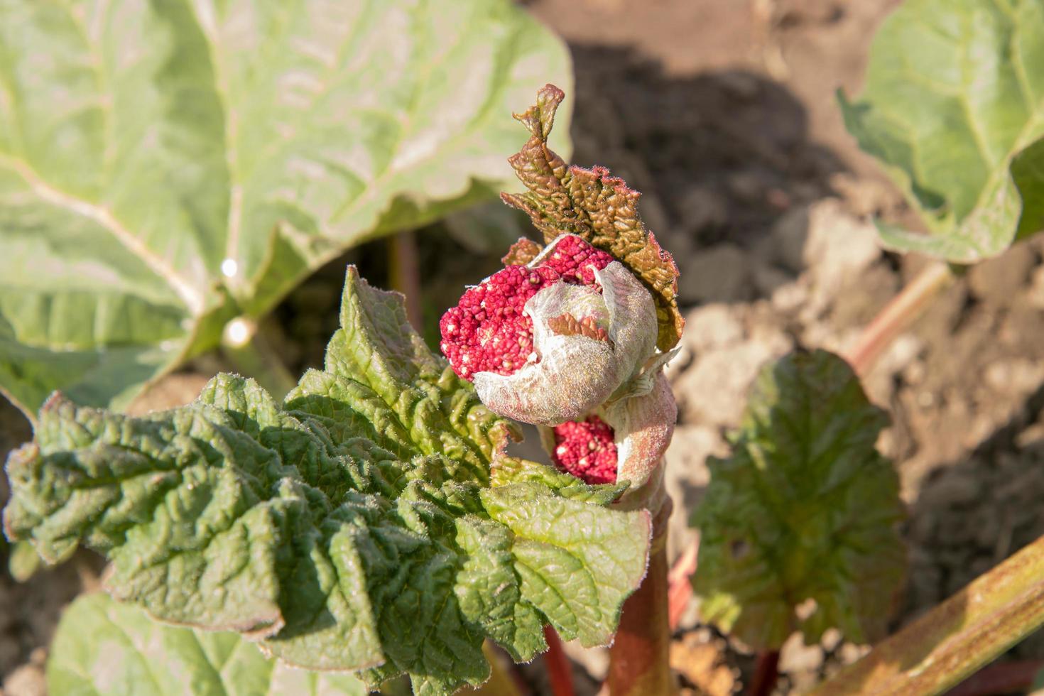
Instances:
[[[490,409],[540,425],[583,418],[656,352],[649,291],[575,235],[469,289],[440,328],[443,353]]]

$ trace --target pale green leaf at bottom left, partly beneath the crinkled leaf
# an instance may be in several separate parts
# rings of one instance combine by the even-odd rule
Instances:
[[[62,696],[363,696],[351,674],[278,664],[237,633],[165,626],[104,594],[84,595],[62,615],[47,662]]]

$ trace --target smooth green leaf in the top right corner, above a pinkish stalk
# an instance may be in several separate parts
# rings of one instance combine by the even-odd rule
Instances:
[[[930,231],[888,246],[972,263],[1044,230],[1044,0],[907,0],[841,107]]]

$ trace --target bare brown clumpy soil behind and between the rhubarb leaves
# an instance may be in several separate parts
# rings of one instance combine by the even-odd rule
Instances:
[[[880,250],[870,216],[917,225],[901,195],[847,136],[835,106],[858,92],[869,42],[898,0],[532,0],[575,63],[573,161],[602,164],[643,192],[641,212],[682,270],[688,328],[668,373],[680,423],[668,452],[675,501],[669,550],[696,541],[685,518],[726,451],[765,360],[796,346],[841,350],[923,267]],[[518,220],[498,213],[495,234]],[[460,222],[459,220],[457,221]],[[467,222],[467,220],[465,220]],[[429,336],[466,283],[497,268],[500,249],[460,224],[416,236]],[[447,232],[451,234],[447,234]],[[388,285],[387,244],[360,247],[295,290],[265,330],[292,370],[318,365],[336,328],[348,261]],[[907,623],[1044,533],[1044,243],[1030,240],[960,278],[868,376],[892,415],[880,447],[902,480],[910,572],[894,627]],[[138,408],[191,398],[205,358]],[[0,449],[28,438],[0,406]],[[0,499],[5,497],[0,477]],[[4,552],[5,553],[5,552]],[[4,568],[6,563],[3,565]],[[81,553],[27,584],[0,572],[0,682],[42,693],[54,622],[96,585]],[[753,658],[690,607],[672,659],[690,693],[741,689]],[[597,650],[567,646],[582,693],[604,673]],[[788,641],[778,693],[797,692],[862,654],[829,632]],[[1005,658],[1044,659],[1030,637]],[[537,661],[523,669],[545,693]]]

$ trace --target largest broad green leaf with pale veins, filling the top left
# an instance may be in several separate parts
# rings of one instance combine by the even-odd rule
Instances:
[[[511,0],[0,1],[0,390],[124,405],[362,240],[496,194],[569,83]]]

